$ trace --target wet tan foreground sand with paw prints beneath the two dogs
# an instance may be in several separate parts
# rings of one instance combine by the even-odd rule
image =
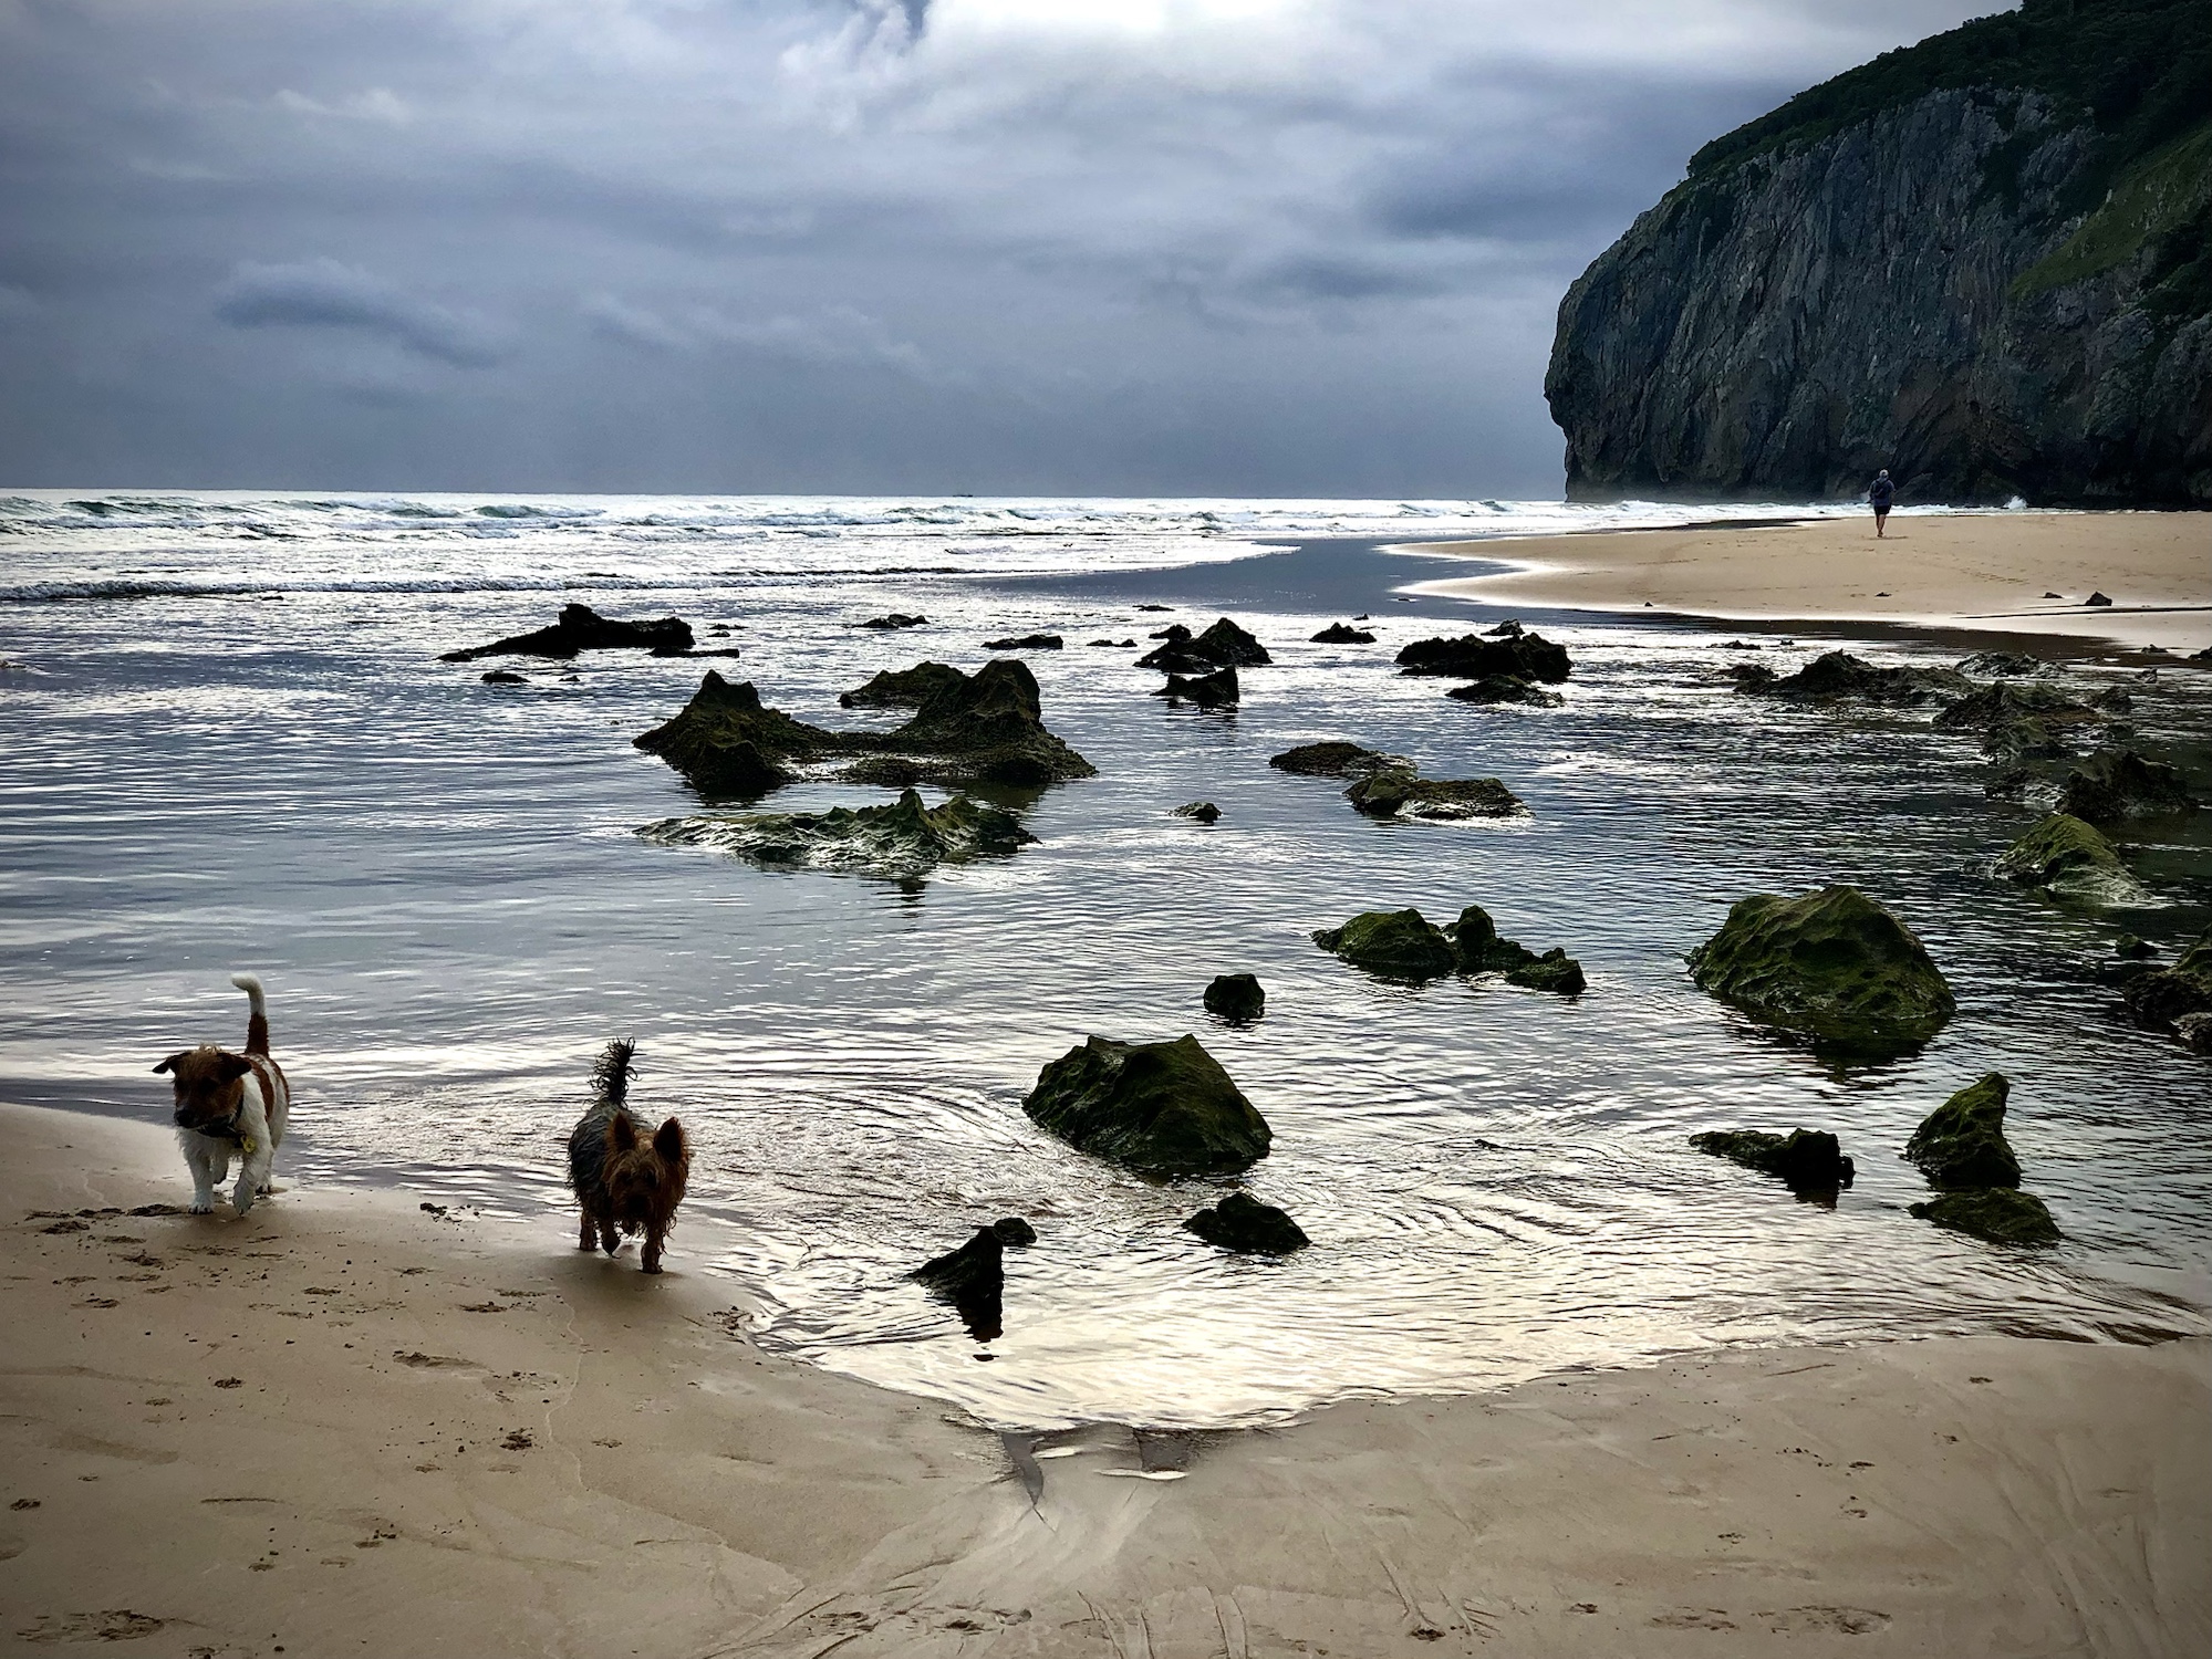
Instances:
[[[2212,1652],[2205,1343],[1767,1349],[1029,1458],[754,1352],[681,1232],[646,1279],[398,1192],[128,1214],[188,1194],[161,1130],[0,1133],[11,1652]]]

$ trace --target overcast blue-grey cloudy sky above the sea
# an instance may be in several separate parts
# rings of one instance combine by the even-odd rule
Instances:
[[[1951,0],[0,0],[0,487],[1557,495],[1568,281]]]

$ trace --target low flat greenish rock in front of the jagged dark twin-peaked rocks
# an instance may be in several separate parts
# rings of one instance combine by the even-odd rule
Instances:
[[[1035,843],[1011,812],[964,794],[940,807],[925,807],[914,790],[883,807],[661,818],[637,834],[661,847],[714,847],[757,865],[854,869],[872,876],[925,876],[938,865],[1006,856]]]

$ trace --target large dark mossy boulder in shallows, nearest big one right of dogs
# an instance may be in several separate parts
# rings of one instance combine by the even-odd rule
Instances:
[[[1137,1175],[1237,1175],[1272,1133],[1197,1037],[1091,1037],[1037,1073],[1022,1102],[1064,1141]]]

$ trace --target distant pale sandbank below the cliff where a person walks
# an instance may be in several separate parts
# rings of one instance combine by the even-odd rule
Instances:
[[[1436,551],[1436,549],[1429,549]],[[1425,582],[1484,604],[1725,622],[1887,622],[2212,646],[2212,513],[1929,513],[1460,542],[1502,575]],[[2044,597],[2062,595],[2059,599]],[[2104,593],[2112,604],[2081,602]]]

